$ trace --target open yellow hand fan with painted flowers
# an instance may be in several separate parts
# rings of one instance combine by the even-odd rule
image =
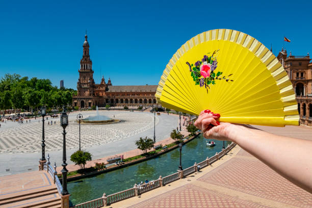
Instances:
[[[187,41],[167,64],[155,96],[163,107],[193,115],[209,109],[221,122],[299,125],[287,72],[261,42],[235,30]]]

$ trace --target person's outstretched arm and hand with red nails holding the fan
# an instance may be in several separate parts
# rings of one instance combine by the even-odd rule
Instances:
[[[238,144],[293,184],[312,193],[311,141],[273,135],[251,125],[220,123],[219,117],[220,114],[210,110],[202,111],[195,126],[205,138]]]

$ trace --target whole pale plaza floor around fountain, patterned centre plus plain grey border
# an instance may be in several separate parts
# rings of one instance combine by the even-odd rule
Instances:
[[[78,113],[84,118],[96,115],[95,111],[83,111],[69,114],[69,125],[66,128],[67,163],[70,155],[79,149],[79,124],[75,121]],[[81,146],[97,160],[136,149],[135,141],[140,137],[153,138],[154,114],[150,112],[99,111],[100,115],[120,119],[121,122],[111,124],[81,124]],[[40,121],[39,121],[40,120]],[[0,128],[0,176],[37,171],[41,158],[42,119],[31,119],[31,122],[18,124],[8,121],[1,123]],[[29,121],[29,119],[28,119]],[[53,125],[47,124],[53,121]],[[48,118],[45,121],[45,158],[49,153],[50,162],[62,164],[63,128],[60,118]],[[55,122],[55,123],[54,123]],[[170,137],[176,128],[176,115],[161,114],[155,117],[156,142]]]

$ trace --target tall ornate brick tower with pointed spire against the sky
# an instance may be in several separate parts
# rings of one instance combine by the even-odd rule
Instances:
[[[77,82],[78,96],[91,97],[93,96],[94,80],[92,61],[89,55],[89,42],[87,31],[85,35],[85,42],[83,44],[83,57],[80,60],[79,79]]]

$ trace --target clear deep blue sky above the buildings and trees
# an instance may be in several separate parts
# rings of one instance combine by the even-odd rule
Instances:
[[[233,29],[278,54],[312,53],[312,1],[1,1],[0,77],[50,79],[76,89],[86,29],[94,80],[157,85],[193,36]],[[292,42],[283,41],[283,36]]]

